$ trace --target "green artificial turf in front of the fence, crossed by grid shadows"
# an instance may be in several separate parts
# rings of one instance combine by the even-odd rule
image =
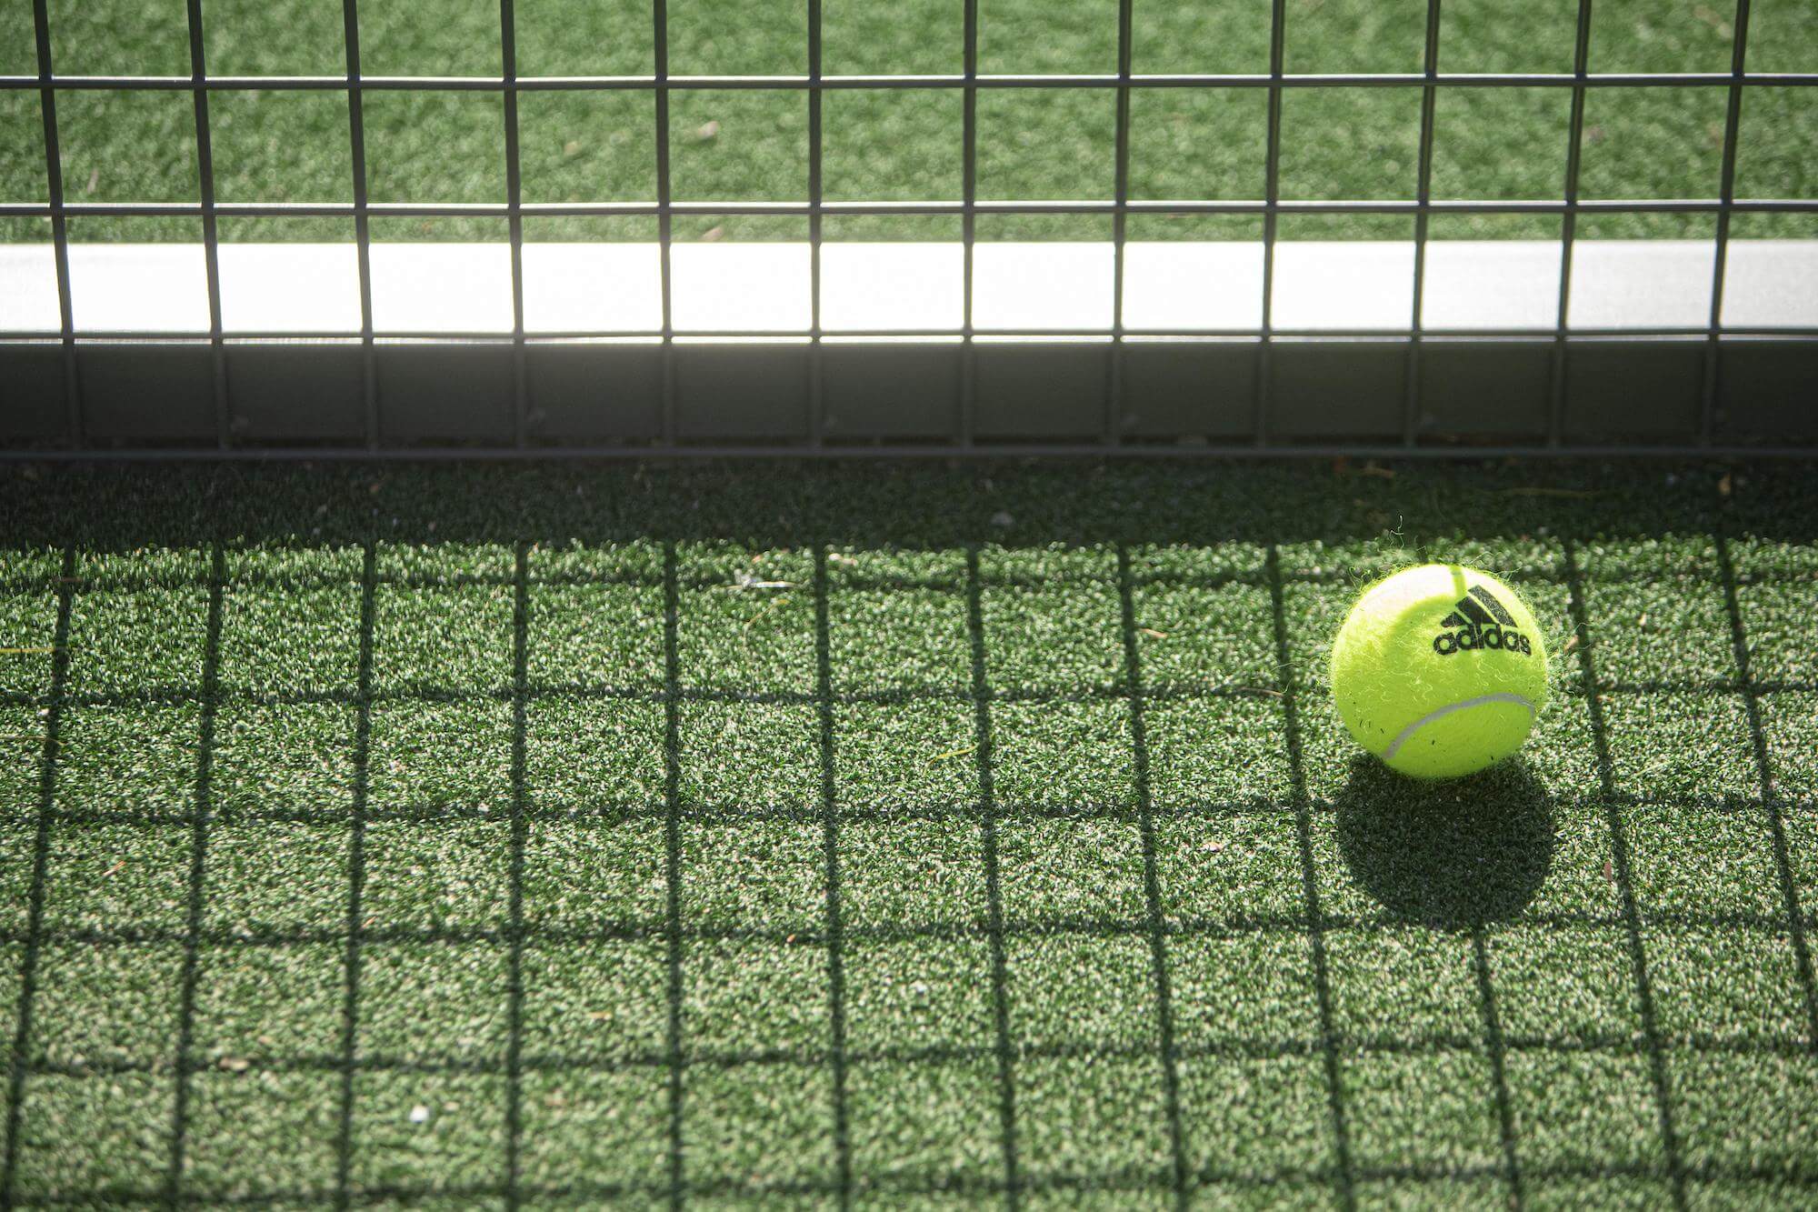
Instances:
[[[1809,1201],[1814,488],[7,471],[0,1181]],[[1322,655],[1443,555],[1556,693],[1423,788]]]

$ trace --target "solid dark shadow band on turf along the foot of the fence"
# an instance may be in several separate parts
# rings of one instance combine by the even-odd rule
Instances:
[[[1734,533],[1811,542],[1813,475],[1749,470]],[[1576,466],[556,464],[0,468],[7,550],[142,546],[734,540],[800,548],[1443,542],[1496,535],[1707,535],[1716,491],[1685,475]],[[1742,479],[1736,480],[1738,484]],[[1702,486],[1702,488],[1700,488]],[[1738,490],[1740,491],[1740,490]]]

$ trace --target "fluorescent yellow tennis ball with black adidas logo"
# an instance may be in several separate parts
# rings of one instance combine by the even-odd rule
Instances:
[[[1391,770],[1454,779],[1527,741],[1547,650],[1527,602],[1476,568],[1422,564],[1374,582],[1333,642],[1345,728]]]

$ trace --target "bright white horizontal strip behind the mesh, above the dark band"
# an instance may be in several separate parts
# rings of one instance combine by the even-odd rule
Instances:
[[[1578,240],[1573,329],[1702,328],[1711,311],[1709,240]],[[662,322],[654,244],[525,244],[531,333],[653,331]],[[809,246],[676,244],[673,317],[682,331],[805,333]],[[0,333],[56,333],[47,244],[0,244]],[[822,328],[958,331],[960,244],[822,246]],[[1109,331],[1109,242],[978,244],[980,331]],[[1285,329],[1405,329],[1411,242],[1276,246],[1274,315]],[[71,295],[82,333],[207,331],[200,244],[73,244]],[[351,244],[222,244],[229,333],[358,333]],[[1560,246],[1553,240],[1433,240],[1422,322],[1431,331],[1551,331]],[[509,333],[505,244],[375,244],[373,322],[380,331]],[[1262,244],[1125,247],[1124,322],[1134,329],[1262,328]],[[1731,328],[1818,328],[1818,240],[1731,240],[1723,295]]]

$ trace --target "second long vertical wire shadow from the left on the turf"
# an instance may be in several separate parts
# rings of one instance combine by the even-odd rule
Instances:
[[[196,737],[196,812],[189,839],[189,906],[184,915],[184,972],[176,994],[176,1094],[171,1105],[171,1161],[164,1183],[171,1201],[184,1194],[184,1154],[189,1143],[189,1052],[196,1035],[196,981],[202,972],[202,910],[207,892],[209,821],[213,815],[215,721],[222,659],[222,599],[227,553],[215,542],[209,559],[209,621],[202,648],[202,722]]]

